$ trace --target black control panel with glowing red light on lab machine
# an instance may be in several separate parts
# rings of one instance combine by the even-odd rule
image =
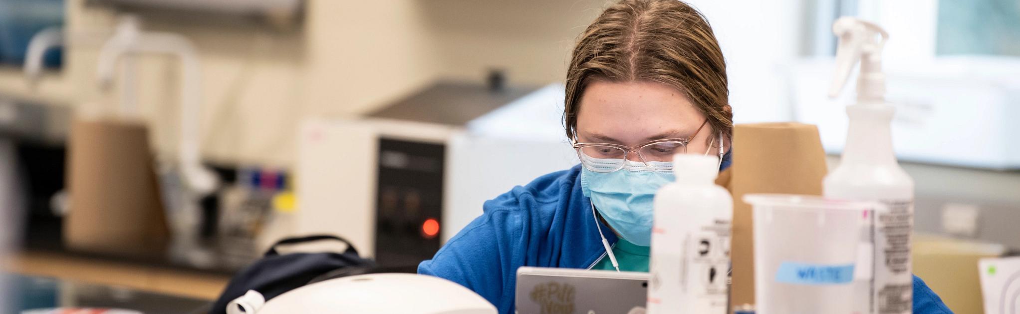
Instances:
[[[379,140],[375,259],[380,266],[415,266],[439,251],[444,160],[442,144]]]

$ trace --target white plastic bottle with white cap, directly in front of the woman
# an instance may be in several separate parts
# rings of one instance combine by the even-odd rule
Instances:
[[[676,181],[655,194],[648,313],[723,314],[733,199],[716,157],[673,157]]]

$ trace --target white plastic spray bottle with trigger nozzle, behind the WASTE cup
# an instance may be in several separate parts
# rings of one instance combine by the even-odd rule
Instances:
[[[910,239],[914,180],[900,167],[892,152],[895,108],[885,102],[885,77],[881,72],[881,49],[888,35],[878,25],[852,17],[837,19],[832,30],[839,37],[839,46],[836,80],[829,96],[838,95],[857,60],[861,60],[861,73],[857,103],[847,106],[847,145],[839,165],[825,176],[824,195],[879,201],[888,207],[869,225],[871,239],[865,242],[873,246],[863,246],[862,256],[870,259],[860,266],[870,273],[857,273],[861,292],[857,296],[859,307],[854,311],[909,314],[913,307]]]

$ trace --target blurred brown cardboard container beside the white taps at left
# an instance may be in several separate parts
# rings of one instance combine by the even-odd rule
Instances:
[[[145,125],[71,122],[64,243],[93,253],[164,254],[168,227]]]

